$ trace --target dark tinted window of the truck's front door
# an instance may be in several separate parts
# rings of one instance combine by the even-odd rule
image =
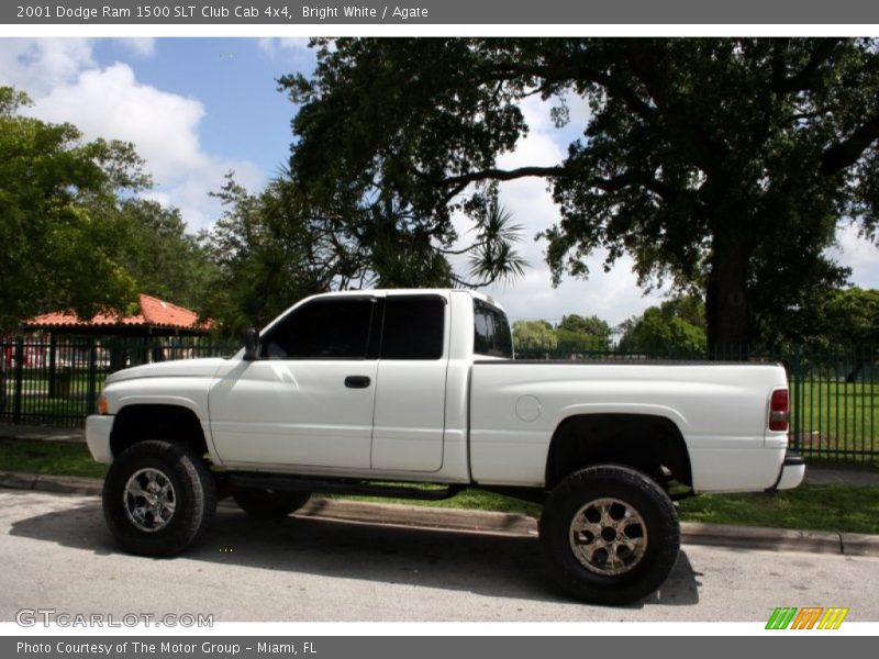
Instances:
[[[263,338],[269,359],[364,359],[376,304],[371,298],[315,300]]]

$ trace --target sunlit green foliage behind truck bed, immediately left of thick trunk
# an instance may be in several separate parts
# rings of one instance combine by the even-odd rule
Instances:
[[[648,355],[703,355],[708,347],[704,306],[698,298],[675,298],[623,323],[620,349]]]

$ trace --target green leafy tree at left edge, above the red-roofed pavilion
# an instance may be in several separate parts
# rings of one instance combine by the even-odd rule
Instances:
[[[111,210],[148,183],[130,144],[84,142],[70,124],[21,116],[26,103],[0,88],[0,331],[49,310],[124,309],[135,282]]]

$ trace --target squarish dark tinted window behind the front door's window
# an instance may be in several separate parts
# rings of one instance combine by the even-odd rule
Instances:
[[[385,300],[381,359],[439,359],[445,300],[438,295],[390,295]]]

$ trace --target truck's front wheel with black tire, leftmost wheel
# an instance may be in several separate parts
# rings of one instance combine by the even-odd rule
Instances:
[[[147,500],[133,492],[145,491],[142,487],[149,477],[166,490],[163,501],[173,503],[171,512],[166,505],[167,520],[142,515]],[[216,485],[211,472],[180,444],[151,439],[131,446],[113,461],[103,483],[104,520],[116,543],[131,554],[179,554],[204,533],[215,512]],[[154,528],[145,528],[149,526]]]

